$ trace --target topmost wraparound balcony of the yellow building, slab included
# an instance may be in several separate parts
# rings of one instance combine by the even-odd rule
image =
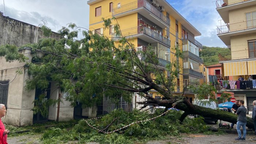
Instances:
[[[170,26],[170,19],[163,15],[161,11],[147,0],[137,0],[129,4],[113,8],[112,16],[119,18],[121,16],[134,13],[140,13],[163,29]]]

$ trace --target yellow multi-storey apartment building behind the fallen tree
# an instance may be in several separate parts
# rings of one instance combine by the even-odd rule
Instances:
[[[89,28],[93,33],[117,39],[112,28],[103,29],[101,19],[115,17],[122,35],[136,47],[151,45],[155,49],[163,70],[166,64],[176,60],[172,48],[179,45],[184,58],[178,60],[182,70],[177,78],[177,94],[192,80],[205,82],[203,60],[199,57],[202,44],[195,39],[201,33],[166,0],[89,0],[87,4],[90,5]],[[161,98],[155,90],[150,94]],[[188,92],[187,97],[192,102],[195,96]]]

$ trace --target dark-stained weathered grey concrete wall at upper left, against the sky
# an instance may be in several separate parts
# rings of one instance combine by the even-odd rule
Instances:
[[[38,26],[3,16],[3,13],[0,12],[0,45],[13,44],[22,46],[26,43],[38,42],[43,37],[43,32]],[[54,32],[50,37],[61,38],[60,35]]]

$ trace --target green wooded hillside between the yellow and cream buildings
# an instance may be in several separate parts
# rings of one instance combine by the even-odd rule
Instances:
[[[202,52],[199,52],[200,57],[204,60],[204,65],[207,66],[218,64],[219,54],[227,60],[231,58],[231,51],[228,48],[203,46]]]

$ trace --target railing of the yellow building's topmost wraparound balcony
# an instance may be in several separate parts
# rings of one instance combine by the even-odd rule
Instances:
[[[163,22],[165,22],[170,26],[170,19],[167,18],[167,16],[163,15],[161,11],[159,11],[155,6],[153,6],[147,0],[137,0],[129,4],[125,4],[120,7],[113,8],[112,15],[114,16],[117,14],[121,14],[123,12],[132,11],[141,7],[146,8],[148,11],[152,12],[155,16],[157,16],[159,19],[161,19]]]

